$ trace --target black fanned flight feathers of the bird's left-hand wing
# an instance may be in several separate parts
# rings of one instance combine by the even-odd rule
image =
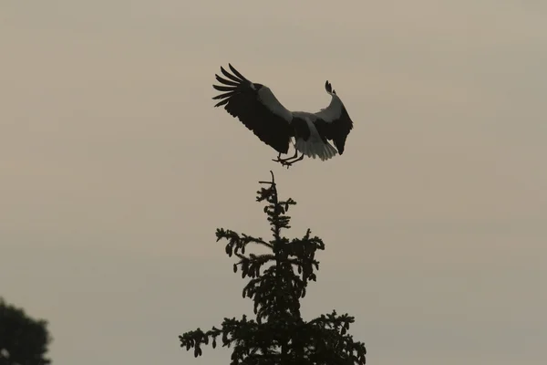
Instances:
[[[228,66],[234,75],[222,67],[222,74],[226,78],[215,75],[217,81],[222,85],[213,85],[212,87],[224,91],[212,98],[220,99],[215,107],[224,106],[224,109],[232,117],[241,120],[243,125],[249,130],[253,130],[253,133],[261,141],[274,148],[275,151],[286,153],[289,150],[289,142],[293,134],[289,125],[291,120],[287,114],[290,112],[284,110],[269,89],[265,88],[260,91],[260,87],[254,86],[232,65]],[[260,94],[261,92],[262,94]],[[264,99],[261,98],[261,95],[270,98]]]

